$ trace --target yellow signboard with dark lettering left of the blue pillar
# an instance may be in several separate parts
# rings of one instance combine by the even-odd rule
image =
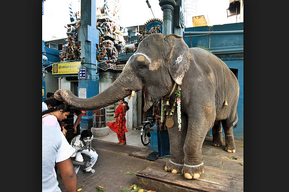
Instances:
[[[52,64],[52,75],[78,74],[80,62]]]

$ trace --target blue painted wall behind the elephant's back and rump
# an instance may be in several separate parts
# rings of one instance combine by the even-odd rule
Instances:
[[[230,69],[238,70],[238,81],[240,85],[240,96],[238,101],[238,123],[233,129],[235,139],[243,140],[244,132],[244,64],[243,64],[243,32],[238,33],[215,33],[214,31],[240,31],[243,30],[243,23],[230,23],[214,26],[201,26],[185,28],[184,41],[189,47],[204,47],[220,58]],[[212,32],[193,33],[193,32]],[[208,132],[212,136],[212,129]]]

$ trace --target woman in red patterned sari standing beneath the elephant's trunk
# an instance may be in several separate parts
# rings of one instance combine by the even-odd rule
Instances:
[[[124,99],[120,100],[120,105],[117,107],[114,118],[116,119],[115,122],[107,122],[108,127],[113,130],[115,133],[117,133],[119,142],[117,144],[120,145],[126,145],[126,138],[125,133],[127,132],[126,129],[126,119],[125,119],[125,113],[129,109],[127,106],[127,102],[124,101]]]

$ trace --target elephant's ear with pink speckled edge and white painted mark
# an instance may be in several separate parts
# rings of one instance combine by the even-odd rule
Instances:
[[[178,85],[182,85],[183,78],[193,60],[189,46],[181,36],[170,34],[164,38],[164,47],[169,74]]]

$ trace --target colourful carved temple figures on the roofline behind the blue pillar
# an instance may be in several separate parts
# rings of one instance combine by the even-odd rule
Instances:
[[[118,62],[120,54],[135,52],[138,44],[148,35],[153,33],[162,33],[163,22],[160,19],[151,19],[147,21],[143,28],[137,32],[135,40],[128,37],[130,44],[126,45],[126,41],[121,34],[118,16],[118,5],[108,7],[108,4],[96,8],[96,28],[99,30],[99,44],[96,44],[96,59],[98,67],[106,70],[121,70],[125,63]],[[81,43],[78,41],[78,28],[80,26],[80,11],[70,14],[71,23],[64,26],[67,28],[66,44],[63,45],[63,51],[59,57],[61,62],[80,61]]]

